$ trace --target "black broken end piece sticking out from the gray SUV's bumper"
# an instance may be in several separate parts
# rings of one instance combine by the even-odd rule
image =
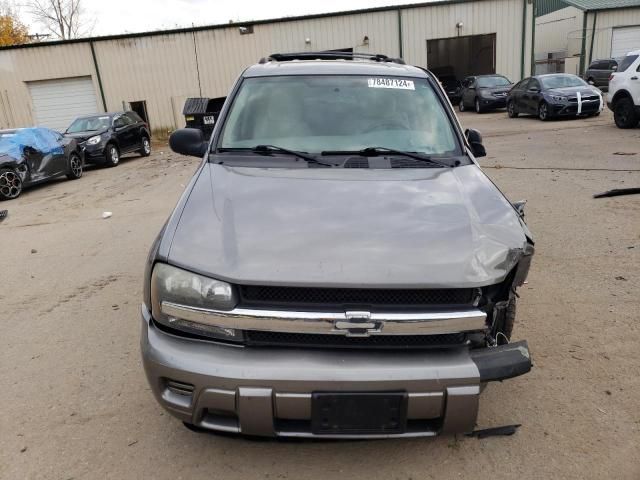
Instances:
[[[526,340],[470,352],[480,371],[481,382],[496,382],[524,375],[531,370],[531,354]]]

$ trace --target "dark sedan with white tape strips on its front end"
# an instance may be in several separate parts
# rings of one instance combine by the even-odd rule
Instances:
[[[568,73],[525,78],[507,97],[507,112],[511,118],[521,113],[537,115],[540,120],[600,115],[603,105],[600,90]]]

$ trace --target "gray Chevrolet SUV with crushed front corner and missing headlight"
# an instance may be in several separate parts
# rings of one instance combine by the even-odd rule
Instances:
[[[245,70],[154,242],[142,359],[190,428],[386,438],[468,432],[510,342],[533,240],[438,80],[383,55]],[[515,405],[505,405],[516,409]]]

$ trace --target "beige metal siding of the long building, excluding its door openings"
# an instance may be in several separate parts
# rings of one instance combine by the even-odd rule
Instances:
[[[522,0],[482,0],[412,8],[327,15],[255,23],[241,35],[240,24],[91,42],[0,49],[0,127],[33,125],[28,81],[90,75],[102,106],[100,71],[107,110],[146,101],[156,134],[184,125],[182,106],[190,96],[225,96],[243,69],[275,52],[353,48],[399,56],[427,65],[427,40],[496,34],[496,71],[521,78],[522,14],[527,5],[525,75],[529,71],[531,6]],[[400,13],[401,12],[401,13]],[[196,62],[197,57],[197,62]]]

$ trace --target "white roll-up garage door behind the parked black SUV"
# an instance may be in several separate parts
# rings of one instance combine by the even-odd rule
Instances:
[[[65,130],[80,115],[98,113],[91,77],[28,82],[36,125]]]

